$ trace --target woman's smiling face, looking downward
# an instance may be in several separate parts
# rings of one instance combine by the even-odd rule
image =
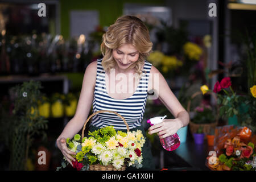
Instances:
[[[123,44],[113,49],[112,55],[120,69],[126,69],[139,59],[139,51],[131,44]]]

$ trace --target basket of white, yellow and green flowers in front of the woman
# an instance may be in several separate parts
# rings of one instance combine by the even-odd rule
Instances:
[[[110,112],[122,118],[127,127],[127,133],[116,131],[113,126],[102,127],[88,133],[84,137],[86,123],[97,113]],[[78,171],[125,171],[126,166],[142,167],[142,147],[145,138],[141,130],[131,132],[125,118],[115,111],[99,110],[89,116],[84,123],[82,135],[76,134],[73,139],[67,138],[69,150],[76,153],[73,168]],[[67,160],[60,168],[67,167]]]

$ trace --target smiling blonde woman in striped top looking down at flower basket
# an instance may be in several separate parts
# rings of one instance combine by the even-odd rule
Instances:
[[[93,113],[97,110],[117,111],[125,118],[131,131],[139,129],[146,136],[141,121],[146,100],[151,97],[147,92],[154,90],[154,97],[163,102],[175,119],[164,119],[164,122],[151,126],[148,134],[158,133],[160,138],[165,138],[189,122],[187,111],[172,93],[162,74],[145,60],[151,52],[152,43],[140,19],[130,15],[121,16],[102,38],[101,52],[104,57],[93,61],[86,68],[76,114],[56,141],[71,165],[71,161],[75,161],[71,155],[75,153],[68,150],[65,139],[79,133],[92,105]],[[89,131],[110,125],[116,130],[126,130],[121,118],[106,112],[92,117]],[[154,169],[148,140],[142,148],[142,154],[143,168]]]

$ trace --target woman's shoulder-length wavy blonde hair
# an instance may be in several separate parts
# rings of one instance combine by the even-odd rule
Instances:
[[[115,68],[117,63],[112,51],[122,44],[131,44],[139,51],[138,60],[127,69],[135,68],[135,73],[141,77],[144,60],[150,55],[153,45],[149,31],[141,19],[132,15],[123,15],[115,20],[102,36],[101,53],[104,56],[102,67],[106,72],[109,73],[112,68]]]

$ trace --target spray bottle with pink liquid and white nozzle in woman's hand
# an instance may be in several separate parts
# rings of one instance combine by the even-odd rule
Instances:
[[[166,118],[166,115],[164,115],[164,117],[150,118],[147,120],[147,123],[150,123],[150,125],[152,126],[160,122],[163,122],[164,118]],[[165,150],[173,151],[180,146],[180,137],[175,133],[174,135],[170,135],[166,138],[160,138],[160,143],[162,144]]]

